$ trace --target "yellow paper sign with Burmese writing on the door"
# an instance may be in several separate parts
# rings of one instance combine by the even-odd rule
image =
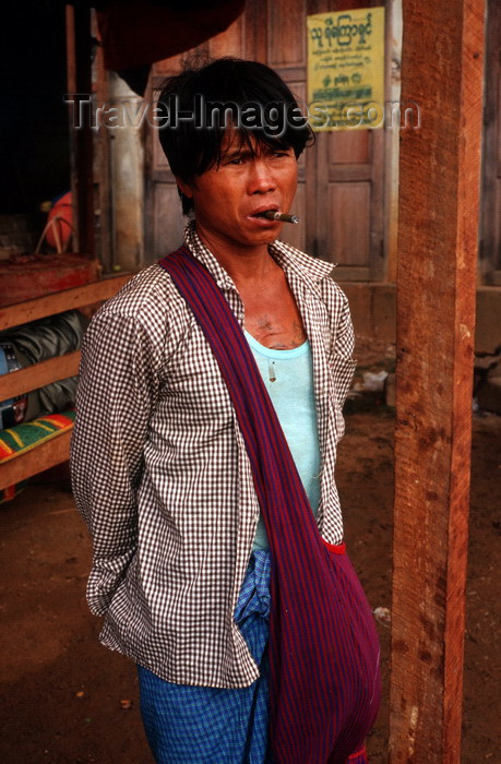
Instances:
[[[381,128],[384,8],[307,16],[308,109],[313,130]]]

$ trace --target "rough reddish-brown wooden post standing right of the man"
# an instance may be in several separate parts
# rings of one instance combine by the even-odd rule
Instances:
[[[403,0],[390,761],[458,764],[482,0]]]

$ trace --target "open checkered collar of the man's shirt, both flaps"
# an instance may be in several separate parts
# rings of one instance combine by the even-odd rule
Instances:
[[[219,264],[213,253],[202,243],[195,227],[195,222],[190,220],[184,229],[184,244],[210,271],[218,287],[236,288],[231,277]],[[327,263],[324,260],[310,258],[305,252],[291,244],[275,239],[270,244],[270,253],[278,265],[287,273],[298,276],[307,286],[318,291],[317,283],[332,272],[336,263]]]

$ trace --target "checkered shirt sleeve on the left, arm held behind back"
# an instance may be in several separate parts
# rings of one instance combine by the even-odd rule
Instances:
[[[75,502],[93,538],[87,600],[106,612],[138,541],[136,490],[157,391],[147,333],[129,317],[98,313],[87,330],[71,443]]]

